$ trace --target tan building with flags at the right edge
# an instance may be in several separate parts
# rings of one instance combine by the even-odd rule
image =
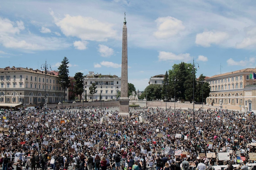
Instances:
[[[222,109],[255,111],[256,80],[250,79],[254,72],[256,68],[246,68],[209,77],[206,81],[211,92],[206,103]]]

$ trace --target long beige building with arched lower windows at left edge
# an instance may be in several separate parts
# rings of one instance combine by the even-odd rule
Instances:
[[[67,88],[64,94],[56,73],[45,74],[45,71],[38,69],[0,68],[0,83],[0,106],[4,103],[43,106],[45,94],[47,103],[62,102],[64,95],[68,94]]]

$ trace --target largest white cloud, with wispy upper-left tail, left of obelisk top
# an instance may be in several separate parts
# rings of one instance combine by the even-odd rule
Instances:
[[[66,36],[91,41],[107,41],[108,38],[116,37],[116,30],[113,30],[112,24],[100,22],[92,17],[66,14],[63,19],[59,19],[55,17],[52,10],[50,10],[50,14],[53,16],[55,24]]]

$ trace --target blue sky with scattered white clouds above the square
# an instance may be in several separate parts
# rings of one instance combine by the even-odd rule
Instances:
[[[69,76],[89,71],[121,76],[124,12],[128,82],[144,90],[151,76],[181,61],[200,74],[254,68],[256,1],[93,0],[2,1],[0,67],[57,70],[64,56]]]

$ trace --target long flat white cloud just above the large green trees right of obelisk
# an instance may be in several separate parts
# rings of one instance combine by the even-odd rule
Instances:
[[[181,61],[189,61],[192,57],[190,54],[173,54],[172,52],[159,51],[158,59],[159,61],[168,61],[168,60],[181,60]]]

